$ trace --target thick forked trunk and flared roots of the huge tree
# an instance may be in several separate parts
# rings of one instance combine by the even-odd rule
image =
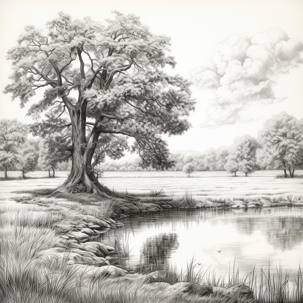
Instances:
[[[56,191],[61,193],[98,193],[105,196],[115,195],[109,188],[99,183],[92,171],[91,163],[101,130],[97,122],[92,129],[90,138],[85,143],[85,108],[71,111],[72,121],[72,169]],[[98,120],[98,119],[97,119]]]

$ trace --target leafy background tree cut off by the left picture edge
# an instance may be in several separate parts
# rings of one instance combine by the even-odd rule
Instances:
[[[20,146],[26,139],[25,124],[17,119],[0,120],[0,164],[4,166],[5,178],[7,178],[7,167],[16,164]]]

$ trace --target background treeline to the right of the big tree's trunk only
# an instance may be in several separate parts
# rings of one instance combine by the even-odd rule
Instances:
[[[286,112],[265,121],[258,138],[236,137],[229,147],[209,148],[207,151],[171,151],[175,165],[170,171],[238,171],[246,176],[256,170],[283,170],[285,177],[303,169],[303,119]],[[142,171],[140,158],[100,165],[102,171]],[[152,168],[144,169],[152,171]]]

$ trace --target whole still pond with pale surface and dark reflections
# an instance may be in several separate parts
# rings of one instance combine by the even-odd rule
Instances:
[[[303,208],[199,209],[131,215],[125,226],[100,235],[120,250],[113,258],[129,271],[161,269],[168,263],[184,271],[191,258],[196,270],[240,277],[254,267],[297,271],[303,261]],[[96,239],[92,240],[96,241]],[[221,252],[218,252],[221,251]]]

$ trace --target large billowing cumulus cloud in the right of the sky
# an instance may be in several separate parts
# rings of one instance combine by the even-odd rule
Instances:
[[[236,122],[249,122],[243,111],[253,102],[279,103],[287,97],[276,98],[273,86],[280,75],[303,63],[299,38],[289,38],[281,28],[252,37],[233,34],[214,47],[211,60],[189,72],[195,87],[215,92],[209,100],[208,121],[202,128],[218,128]]]

